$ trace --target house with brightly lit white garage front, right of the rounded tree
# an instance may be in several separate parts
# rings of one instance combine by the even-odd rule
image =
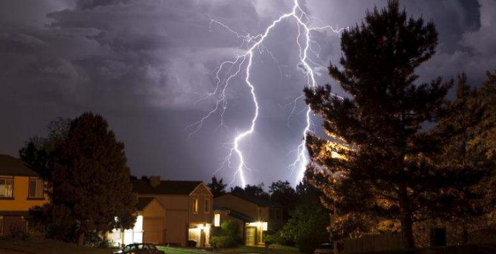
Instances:
[[[151,176],[149,181],[137,180],[132,184],[139,199],[138,220],[132,230],[113,230],[109,238],[114,244],[209,244],[213,195],[205,183],[161,181],[159,176]]]

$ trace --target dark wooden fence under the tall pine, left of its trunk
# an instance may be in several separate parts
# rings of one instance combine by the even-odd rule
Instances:
[[[380,250],[403,249],[403,240],[399,233],[364,235],[362,238],[343,240],[345,253],[365,253]]]

